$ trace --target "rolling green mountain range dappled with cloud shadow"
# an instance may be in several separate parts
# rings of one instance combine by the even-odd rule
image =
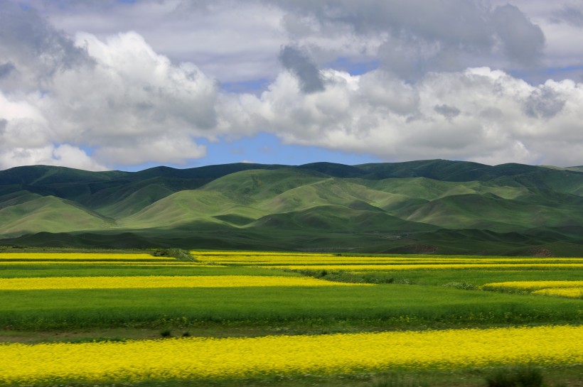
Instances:
[[[580,256],[583,167],[23,166],[0,171],[0,245]]]

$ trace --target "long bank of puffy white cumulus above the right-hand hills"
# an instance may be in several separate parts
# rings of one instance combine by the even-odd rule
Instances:
[[[295,77],[282,73],[258,99],[258,125],[286,143],[384,160],[580,163],[581,84],[533,87],[487,67],[429,73],[414,85],[383,70],[322,73],[326,89],[317,94],[304,94]],[[556,104],[541,102],[545,94]]]

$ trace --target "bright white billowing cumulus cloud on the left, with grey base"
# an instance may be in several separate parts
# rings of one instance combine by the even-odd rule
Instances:
[[[137,33],[102,42],[79,34],[92,67],[60,72],[41,109],[60,141],[96,148],[109,165],[178,163],[204,156],[194,137],[213,137],[217,84],[195,65],[173,65]]]

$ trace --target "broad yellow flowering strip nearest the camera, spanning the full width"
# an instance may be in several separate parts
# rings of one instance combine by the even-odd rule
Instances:
[[[582,326],[0,345],[0,383],[583,363]]]

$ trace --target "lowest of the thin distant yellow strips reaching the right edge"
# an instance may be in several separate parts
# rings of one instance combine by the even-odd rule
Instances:
[[[252,266],[249,266],[252,267]],[[405,271],[405,270],[449,270],[449,269],[560,269],[583,268],[583,263],[429,263],[429,264],[384,264],[384,265],[284,265],[257,266],[261,268],[286,268],[288,270],[344,270],[344,271]]]

